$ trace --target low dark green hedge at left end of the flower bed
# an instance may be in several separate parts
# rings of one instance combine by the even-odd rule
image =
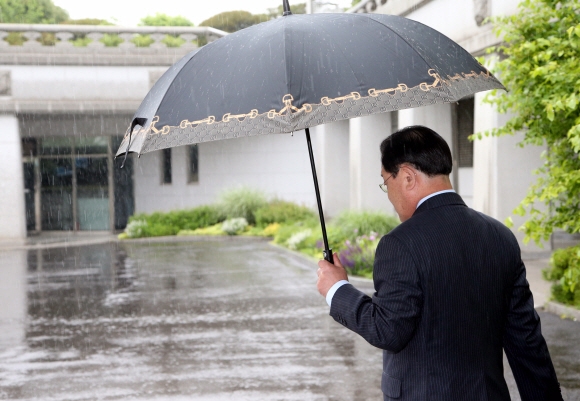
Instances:
[[[129,218],[125,233],[129,238],[175,235],[182,230],[195,230],[223,221],[213,206],[198,206],[190,210],[136,214]]]

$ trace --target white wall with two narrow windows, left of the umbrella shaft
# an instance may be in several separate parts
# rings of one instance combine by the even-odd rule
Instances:
[[[172,183],[161,184],[160,152],[135,159],[136,212],[214,202],[223,190],[249,186],[314,208],[316,198],[304,132],[199,144],[199,182],[187,183],[187,147],[172,150]]]

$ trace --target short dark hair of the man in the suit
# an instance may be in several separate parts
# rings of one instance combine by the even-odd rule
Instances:
[[[381,163],[385,171],[395,176],[403,163],[430,177],[449,175],[453,166],[445,139],[421,125],[400,129],[387,137],[381,143]]]

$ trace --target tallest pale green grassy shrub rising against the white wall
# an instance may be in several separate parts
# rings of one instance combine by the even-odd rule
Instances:
[[[256,224],[254,213],[266,206],[266,196],[248,187],[234,188],[222,192],[218,199],[218,208],[228,219],[243,217],[248,224]]]

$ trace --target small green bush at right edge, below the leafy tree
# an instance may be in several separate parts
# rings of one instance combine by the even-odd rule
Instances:
[[[580,308],[580,246],[556,250],[542,273],[552,285],[552,298]]]

